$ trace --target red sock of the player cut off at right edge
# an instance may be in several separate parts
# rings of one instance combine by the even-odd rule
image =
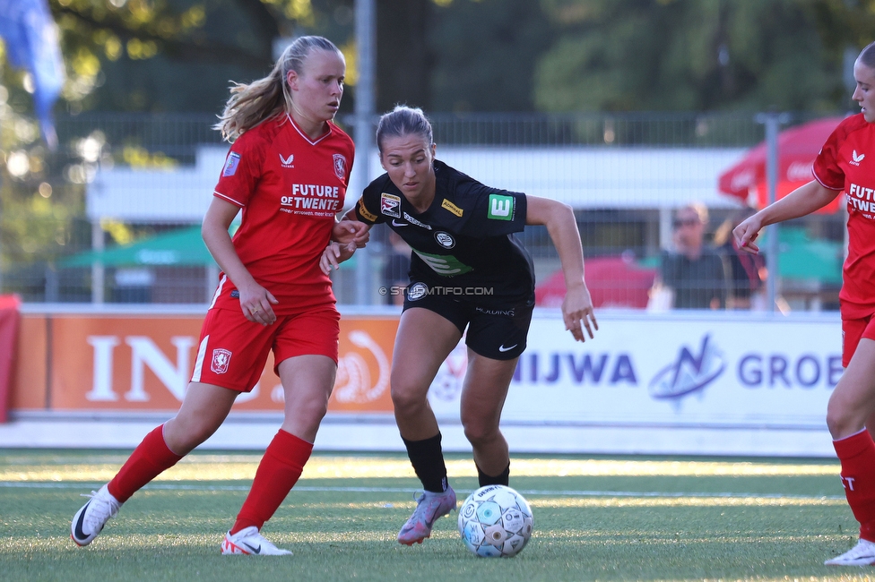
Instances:
[[[875,542],[875,442],[863,429],[833,441],[842,461],[842,484],[853,517],[860,522],[860,537]]]

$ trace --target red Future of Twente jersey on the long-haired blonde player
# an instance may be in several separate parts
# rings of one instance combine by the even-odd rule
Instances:
[[[290,116],[256,125],[231,146],[213,195],[243,209],[234,248],[279,300],[278,315],[334,304],[319,259],[343,209],[354,151],[336,125],[312,141]],[[222,273],[211,307],[239,304],[237,287]]]

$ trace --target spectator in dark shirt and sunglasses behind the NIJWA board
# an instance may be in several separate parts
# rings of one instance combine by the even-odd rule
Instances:
[[[708,210],[693,202],[679,209],[672,223],[674,248],[663,252],[652,299],[675,309],[723,309],[726,273],[720,254],[705,244]]]

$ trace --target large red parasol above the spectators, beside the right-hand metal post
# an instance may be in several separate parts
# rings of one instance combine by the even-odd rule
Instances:
[[[811,173],[814,159],[842,119],[843,117],[825,117],[791,127],[778,134],[777,200],[814,179]],[[750,150],[739,163],[723,172],[719,178],[720,192],[739,198],[744,203],[750,203],[749,199],[753,194],[759,208],[766,206],[766,153],[766,142],[763,141]],[[840,201],[841,196],[836,196],[836,200],[821,211],[835,212]]]

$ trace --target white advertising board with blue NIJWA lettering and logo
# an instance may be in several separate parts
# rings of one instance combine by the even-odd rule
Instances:
[[[837,313],[817,318],[602,317],[575,342],[536,317],[502,415],[512,449],[829,456],[824,417],[842,373]],[[459,423],[464,349],[429,401]],[[511,438],[511,435],[518,435]]]

